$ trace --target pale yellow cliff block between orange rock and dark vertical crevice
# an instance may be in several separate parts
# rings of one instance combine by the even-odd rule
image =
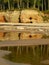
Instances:
[[[18,23],[19,22],[19,11],[7,11],[4,16],[7,22]]]

